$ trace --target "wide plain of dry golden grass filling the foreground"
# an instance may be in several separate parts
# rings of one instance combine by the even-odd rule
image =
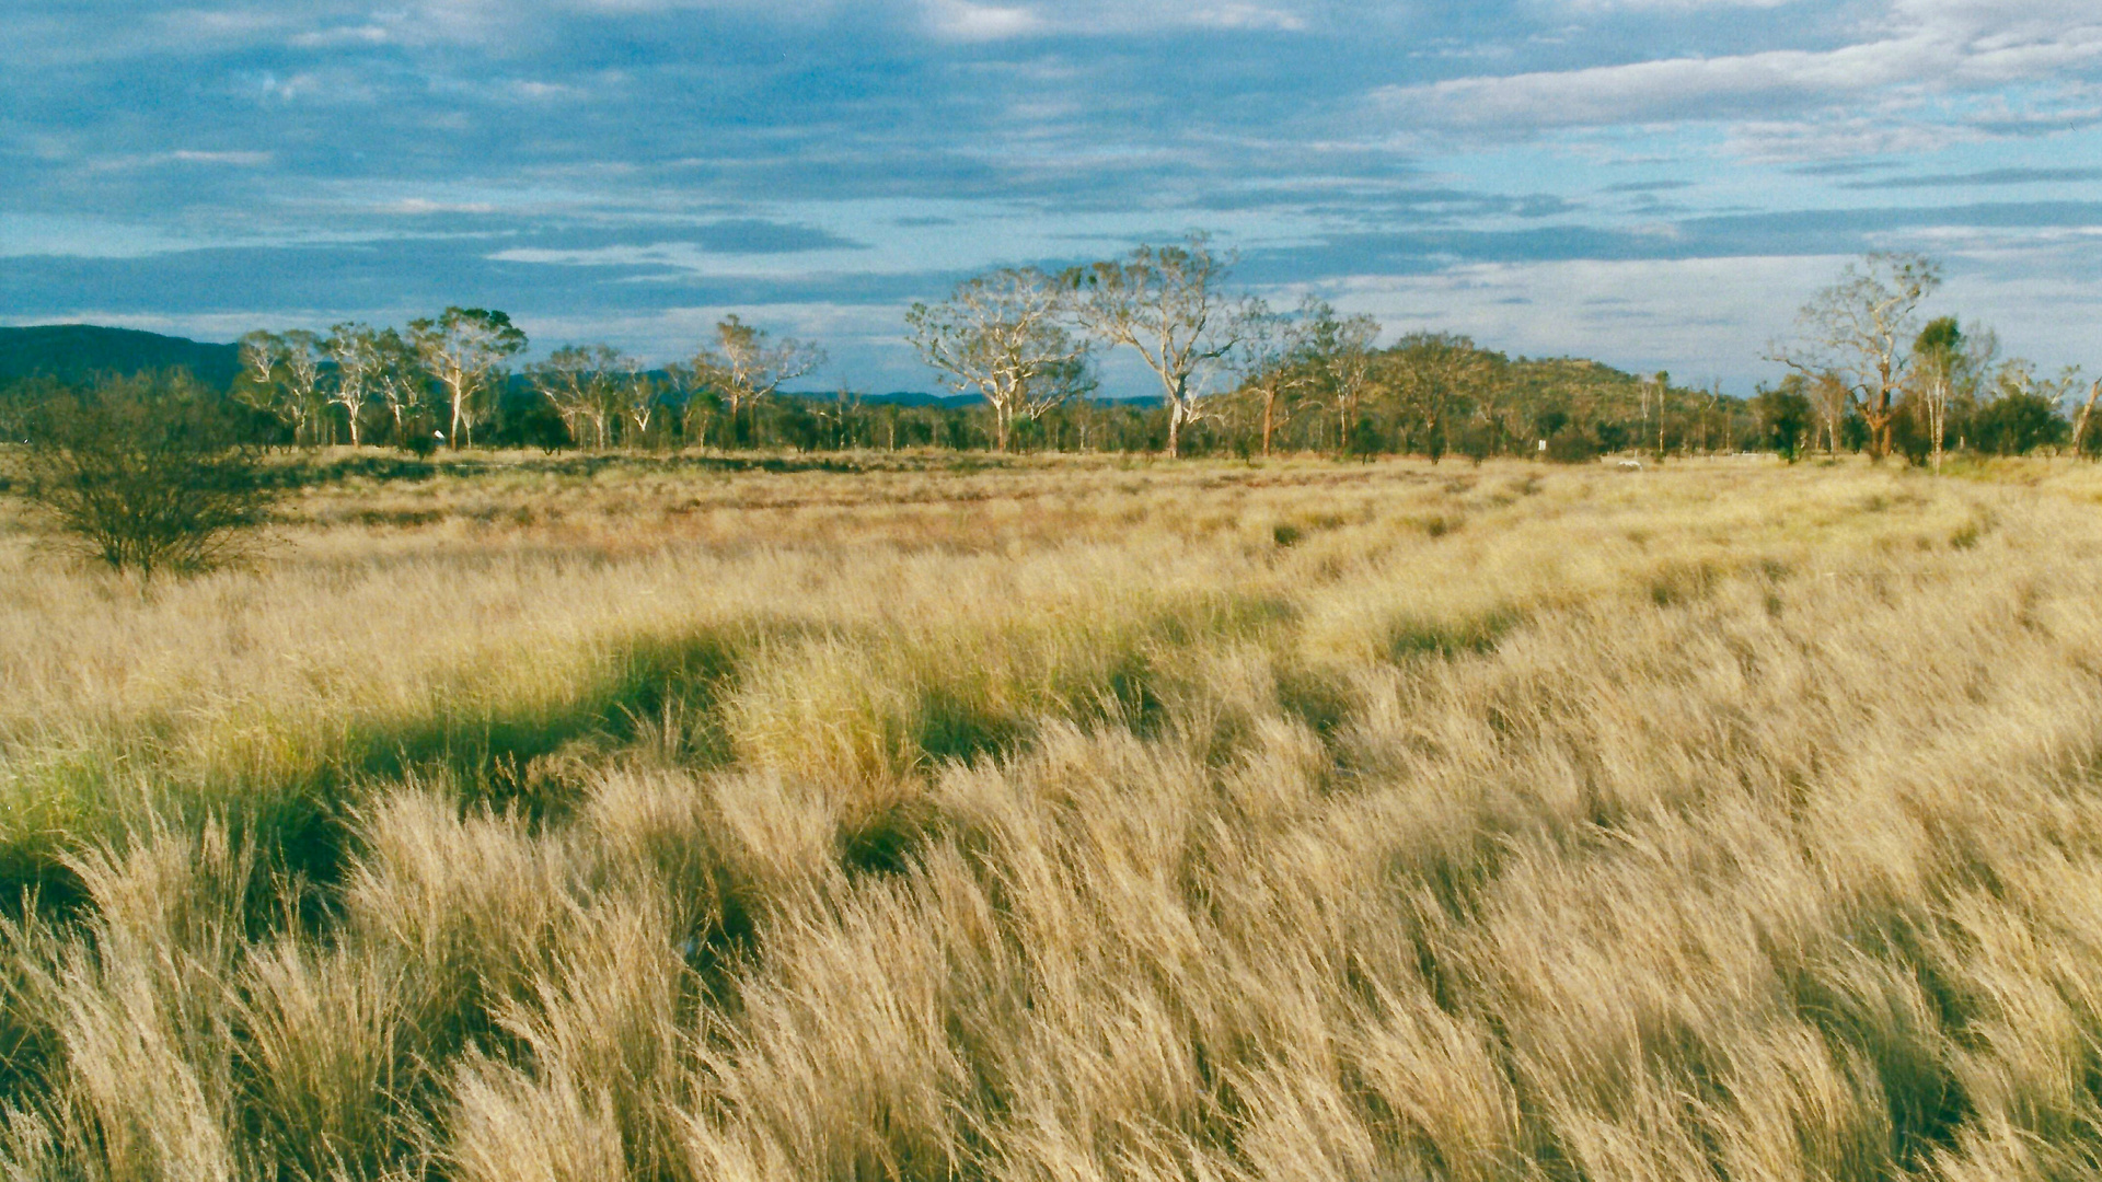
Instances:
[[[2102,1171],[2091,465],[298,463],[0,517],[6,1182]]]

